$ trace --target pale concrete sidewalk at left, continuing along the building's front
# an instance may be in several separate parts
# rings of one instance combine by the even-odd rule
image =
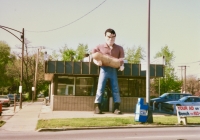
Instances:
[[[0,127],[0,131],[36,131],[37,121],[39,119],[53,118],[92,118],[92,117],[133,117],[134,113],[124,113],[115,115],[111,112],[105,114],[94,114],[93,111],[52,111],[50,106],[44,102],[27,103],[22,106],[6,123]]]

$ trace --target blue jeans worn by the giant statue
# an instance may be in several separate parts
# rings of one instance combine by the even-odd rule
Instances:
[[[119,86],[117,79],[117,71],[115,68],[101,66],[100,74],[94,103],[101,103],[107,80],[110,79],[111,91],[114,103],[120,103]]]

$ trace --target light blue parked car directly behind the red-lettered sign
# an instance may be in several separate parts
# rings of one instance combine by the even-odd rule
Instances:
[[[169,101],[161,104],[164,110],[174,111],[175,106],[200,106],[199,96],[185,96],[178,101]]]

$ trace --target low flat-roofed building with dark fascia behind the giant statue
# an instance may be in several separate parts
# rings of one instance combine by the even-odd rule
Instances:
[[[133,112],[139,97],[146,96],[146,71],[141,64],[124,63],[118,71],[121,96],[120,110]],[[151,64],[150,78],[163,77],[164,65]],[[46,61],[45,80],[50,81],[52,110],[93,111],[99,77],[99,66],[93,62]],[[103,111],[113,109],[109,81],[103,97]]]

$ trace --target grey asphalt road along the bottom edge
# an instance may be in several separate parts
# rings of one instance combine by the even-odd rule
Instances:
[[[200,127],[70,130],[62,132],[7,132],[1,140],[199,140]]]

